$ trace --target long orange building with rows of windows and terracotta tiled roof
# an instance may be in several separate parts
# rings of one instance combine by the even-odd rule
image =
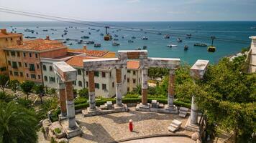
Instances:
[[[40,57],[56,58],[67,55],[68,48],[61,41],[35,39],[20,41],[17,45],[4,48],[9,78],[42,83]],[[50,69],[53,70],[53,69]]]

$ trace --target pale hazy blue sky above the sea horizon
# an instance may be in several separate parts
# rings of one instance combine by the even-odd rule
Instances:
[[[0,7],[86,21],[256,21],[256,0],[0,0]],[[46,21],[0,11],[0,21]]]

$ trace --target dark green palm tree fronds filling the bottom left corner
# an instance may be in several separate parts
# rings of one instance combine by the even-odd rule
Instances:
[[[0,142],[37,142],[35,112],[14,102],[0,102]]]

